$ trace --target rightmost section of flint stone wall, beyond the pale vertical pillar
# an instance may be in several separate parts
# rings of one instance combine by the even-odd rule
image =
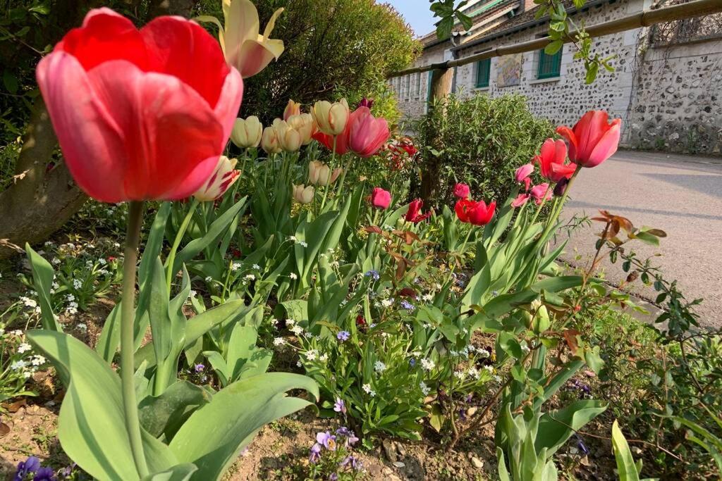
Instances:
[[[638,149],[721,153],[722,37],[646,51],[627,133]]]

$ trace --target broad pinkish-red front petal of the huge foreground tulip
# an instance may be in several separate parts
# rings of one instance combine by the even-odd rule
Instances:
[[[126,198],[175,200],[201,187],[222,154],[224,129],[196,90],[126,61],[105,62],[87,77],[123,135],[115,156]]]

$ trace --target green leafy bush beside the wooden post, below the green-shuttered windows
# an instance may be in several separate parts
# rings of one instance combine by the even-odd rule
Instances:
[[[432,182],[422,195],[437,206],[452,203],[456,182],[469,184],[473,198],[505,200],[514,170],[554,135],[552,123],[534,117],[526,97],[517,94],[493,99],[452,94],[415,123],[414,131],[423,146],[422,176]]]

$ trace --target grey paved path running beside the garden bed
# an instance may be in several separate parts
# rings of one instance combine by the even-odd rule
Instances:
[[[669,279],[676,278],[687,299],[704,298],[697,307],[701,323],[722,327],[722,162],[697,156],[635,151],[617,152],[593,169],[583,169],[570,193],[564,216],[594,215],[599,209],[625,216],[635,226],[666,231],[660,246],[632,241]],[[599,222],[578,229],[562,259],[585,265],[594,252]],[[580,256],[577,258],[577,256]],[[609,281],[626,277],[619,262],[604,272]],[[653,298],[653,289],[636,281],[639,294]]]

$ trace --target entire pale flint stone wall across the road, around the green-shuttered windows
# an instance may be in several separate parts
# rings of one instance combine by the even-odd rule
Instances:
[[[575,22],[587,25],[625,17],[648,8],[651,0],[616,0],[593,6],[575,15]],[[493,43],[473,45],[459,50],[458,56],[479,53],[497,45],[510,45],[544,36],[546,25],[539,25]],[[722,149],[722,40],[674,46],[647,46],[649,30],[629,30],[593,40],[593,52],[616,55],[613,72],[599,71],[593,84],[585,83],[583,63],[573,59],[575,47],[562,50],[560,76],[537,79],[539,52],[520,54],[521,76],[518,85],[501,87],[498,66],[502,58],[492,58],[489,87],[477,89],[476,64],[456,70],[454,89],[462,96],[487,94],[497,97],[518,93],[527,97],[529,109],[559,125],[573,125],[587,110],[606,110],[622,119],[622,144],[639,149],[669,149],[679,152],[718,154]],[[427,65],[450,58],[448,43],[425,50],[416,65]],[[419,75],[419,74],[414,74]],[[425,112],[426,73],[420,74],[422,93],[405,94],[409,80],[400,85],[399,107],[410,118]],[[412,76],[413,77],[413,76]],[[412,85],[416,85],[413,82]],[[396,90],[399,92],[399,90]]]

